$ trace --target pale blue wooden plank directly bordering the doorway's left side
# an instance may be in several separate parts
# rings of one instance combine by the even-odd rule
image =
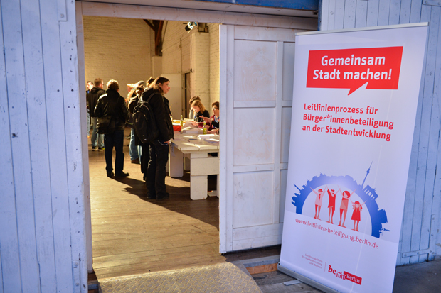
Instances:
[[[70,238],[73,261],[74,292],[87,289],[87,255],[85,250],[85,209],[83,183],[82,122],[78,80],[77,35],[75,1],[66,2],[66,18],[60,21],[61,64],[63,65],[63,110],[65,114],[66,167],[68,171],[68,198]],[[70,70],[65,70],[69,68]]]

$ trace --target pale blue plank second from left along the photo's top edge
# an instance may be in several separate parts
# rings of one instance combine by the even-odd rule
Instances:
[[[44,84],[43,48],[41,43],[41,16],[38,2],[22,2],[24,70],[26,72],[26,101],[31,149],[33,209],[41,292],[56,292],[55,254],[51,205],[51,175],[48,152],[48,117],[46,101],[35,89]],[[30,204],[32,201],[30,202]],[[29,229],[33,227],[28,226]]]

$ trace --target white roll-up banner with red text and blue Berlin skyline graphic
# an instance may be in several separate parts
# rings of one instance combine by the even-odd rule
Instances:
[[[426,38],[427,23],[296,35],[280,270],[392,292]]]

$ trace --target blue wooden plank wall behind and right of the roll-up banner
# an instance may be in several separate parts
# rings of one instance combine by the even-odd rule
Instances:
[[[319,29],[429,22],[397,265],[441,255],[441,7],[422,0],[322,0]],[[410,255],[410,256],[409,256]]]

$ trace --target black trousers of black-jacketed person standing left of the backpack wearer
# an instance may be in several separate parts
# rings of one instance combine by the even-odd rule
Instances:
[[[115,147],[115,175],[121,174],[124,169],[124,153],[122,153],[122,146],[124,144],[124,131],[115,130],[112,134],[104,135],[104,156],[106,159],[106,171],[110,173],[113,171],[112,167],[112,151]]]

